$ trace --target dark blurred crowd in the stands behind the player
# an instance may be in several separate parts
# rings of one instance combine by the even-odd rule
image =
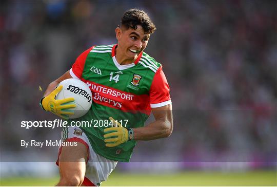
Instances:
[[[138,142],[131,166],[276,167],[276,1],[0,4],[2,161],[54,161],[56,147],[24,149],[20,140],[59,139],[61,129],[26,130],[21,121],[54,119],[38,105],[48,84],[90,46],[116,43],[124,11],[140,8],[157,27],[145,51],[163,64],[174,130],[169,138]]]

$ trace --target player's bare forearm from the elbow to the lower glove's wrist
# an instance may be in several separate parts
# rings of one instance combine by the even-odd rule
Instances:
[[[133,128],[135,140],[154,140],[169,137],[172,133],[173,122],[156,120],[145,127]]]

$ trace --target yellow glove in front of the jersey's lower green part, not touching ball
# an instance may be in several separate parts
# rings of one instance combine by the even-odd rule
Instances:
[[[133,139],[133,130],[128,127],[123,127],[112,117],[109,118],[115,127],[104,129],[104,141],[107,147],[115,147]]]

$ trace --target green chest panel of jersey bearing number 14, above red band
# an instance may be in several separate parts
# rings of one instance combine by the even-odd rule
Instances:
[[[85,65],[82,77],[97,85],[141,95],[148,94],[152,82],[147,72],[140,66],[121,70],[112,60],[97,59]]]

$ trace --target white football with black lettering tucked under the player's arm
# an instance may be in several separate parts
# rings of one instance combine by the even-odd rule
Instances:
[[[69,108],[74,111],[74,115],[69,116],[69,118],[80,118],[87,114],[92,104],[92,94],[88,85],[78,79],[66,79],[57,86],[60,85],[63,85],[63,89],[56,95],[56,100],[74,98],[76,105],[75,108]]]

